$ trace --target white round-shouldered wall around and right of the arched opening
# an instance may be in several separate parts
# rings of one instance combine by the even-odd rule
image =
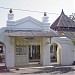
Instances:
[[[74,62],[73,44],[66,37],[53,37],[51,43],[58,43],[61,46],[61,65],[72,65]]]

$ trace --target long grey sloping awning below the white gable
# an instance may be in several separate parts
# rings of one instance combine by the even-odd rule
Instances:
[[[26,37],[57,37],[58,34],[54,30],[27,30],[27,29],[6,29],[5,35],[8,36],[26,36]]]

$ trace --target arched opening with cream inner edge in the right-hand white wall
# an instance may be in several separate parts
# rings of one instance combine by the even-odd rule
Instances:
[[[61,45],[57,42],[53,42],[50,45],[50,59],[51,62],[61,64]]]

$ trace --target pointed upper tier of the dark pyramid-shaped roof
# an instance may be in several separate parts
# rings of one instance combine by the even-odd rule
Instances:
[[[73,28],[75,27],[75,22],[71,20],[68,16],[66,16],[62,10],[60,16],[55,20],[55,22],[51,25],[50,28],[56,29],[56,28]]]

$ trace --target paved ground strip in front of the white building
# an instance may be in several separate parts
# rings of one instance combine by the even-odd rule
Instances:
[[[30,66],[9,71],[0,68],[0,75],[75,75],[75,66]]]

